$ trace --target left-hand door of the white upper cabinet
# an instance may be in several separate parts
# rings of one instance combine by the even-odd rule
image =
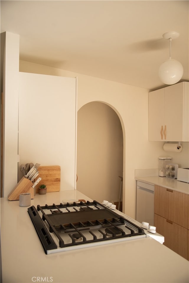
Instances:
[[[164,127],[164,88],[149,92],[149,141],[162,141]]]

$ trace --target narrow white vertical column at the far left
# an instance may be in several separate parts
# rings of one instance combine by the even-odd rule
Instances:
[[[17,184],[19,35],[6,32],[4,48],[3,197]]]

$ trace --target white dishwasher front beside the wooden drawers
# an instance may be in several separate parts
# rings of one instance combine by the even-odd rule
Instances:
[[[154,225],[154,185],[137,181],[136,221]]]

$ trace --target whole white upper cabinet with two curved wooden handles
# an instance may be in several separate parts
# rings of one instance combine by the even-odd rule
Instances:
[[[189,83],[149,92],[149,141],[189,141]]]

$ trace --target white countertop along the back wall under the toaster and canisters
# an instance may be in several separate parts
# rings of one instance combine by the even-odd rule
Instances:
[[[167,177],[150,176],[150,177],[135,177],[135,180],[148,183],[151,185],[157,185],[165,188],[170,188],[181,193],[189,194],[189,183],[177,181],[177,179],[171,179]]]

